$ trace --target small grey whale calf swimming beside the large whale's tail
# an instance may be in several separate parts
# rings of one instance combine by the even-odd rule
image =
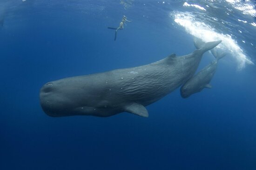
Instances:
[[[188,98],[194,93],[201,92],[204,88],[211,88],[209,83],[216,72],[218,61],[226,55],[226,53],[217,52],[215,48],[211,52],[216,60],[206,65],[200,72],[182,85],[180,89],[182,98]]]

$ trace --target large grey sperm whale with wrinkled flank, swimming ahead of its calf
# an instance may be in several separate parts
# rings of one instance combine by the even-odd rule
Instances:
[[[208,42],[188,55],[172,54],[148,65],[49,82],[40,90],[41,107],[52,117],[108,117],[121,112],[148,117],[145,106],[191,78],[202,54],[220,42]]]

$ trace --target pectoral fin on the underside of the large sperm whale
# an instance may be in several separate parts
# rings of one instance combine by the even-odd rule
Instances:
[[[134,103],[132,105],[126,106],[124,110],[129,113],[148,118],[148,111],[143,105]]]

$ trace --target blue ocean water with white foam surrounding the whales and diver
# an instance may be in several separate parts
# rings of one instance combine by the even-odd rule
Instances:
[[[0,170],[256,170],[252,0],[1,0]],[[114,41],[123,15],[124,30]],[[149,117],[52,118],[49,81],[134,67],[222,39],[212,89],[179,89]],[[214,58],[204,54],[198,70]]]

